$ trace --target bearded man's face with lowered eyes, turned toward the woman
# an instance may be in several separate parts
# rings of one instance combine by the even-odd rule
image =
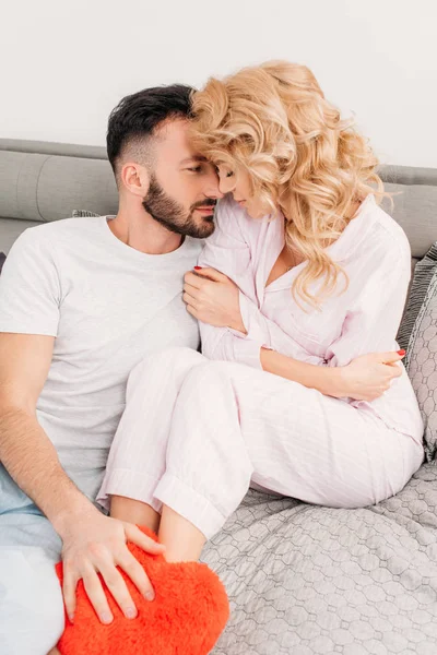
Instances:
[[[155,163],[144,210],[167,229],[204,239],[214,231],[214,207],[222,193],[215,167],[188,140],[188,121],[169,121],[157,134]]]

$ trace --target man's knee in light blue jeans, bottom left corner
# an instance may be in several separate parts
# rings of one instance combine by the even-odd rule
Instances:
[[[64,627],[61,587],[39,549],[1,550],[0,653],[46,655]]]

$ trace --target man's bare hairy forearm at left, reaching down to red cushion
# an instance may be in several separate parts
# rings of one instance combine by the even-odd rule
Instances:
[[[71,516],[95,511],[61,467],[35,416],[21,408],[0,407],[0,426],[1,463],[60,536]]]

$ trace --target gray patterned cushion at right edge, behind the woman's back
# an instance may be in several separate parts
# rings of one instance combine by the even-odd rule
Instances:
[[[416,266],[403,323],[404,364],[424,419],[429,462],[437,452],[437,243]]]

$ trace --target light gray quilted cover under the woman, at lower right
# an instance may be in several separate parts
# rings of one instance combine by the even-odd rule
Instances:
[[[202,560],[231,600],[213,655],[435,655],[437,466],[359,510],[250,490]]]

